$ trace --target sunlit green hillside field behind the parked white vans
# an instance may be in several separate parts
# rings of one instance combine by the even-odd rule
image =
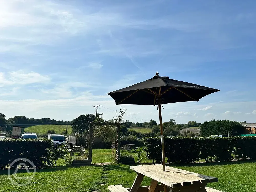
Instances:
[[[36,133],[38,135],[46,134],[48,130],[54,130],[56,134],[61,134],[66,131],[66,125],[34,125],[25,128],[26,133]],[[68,134],[71,134],[72,128],[68,125]]]

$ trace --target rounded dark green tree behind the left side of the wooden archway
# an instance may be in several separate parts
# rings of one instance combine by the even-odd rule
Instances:
[[[88,124],[86,125],[86,123],[93,122],[95,118],[95,115],[92,114],[80,115],[78,118],[72,121],[72,131],[79,132],[81,135],[83,135],[84,132],[87,132],[89,129],[89,126]]]

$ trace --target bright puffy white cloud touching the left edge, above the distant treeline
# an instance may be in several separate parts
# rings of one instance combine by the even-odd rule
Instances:
[[[10,85],[25,85],[33,83],[47,83],[50,81],[50,77],[47,75],[40,75],[33,71],[26,73],[25,71],[13,71],[6,75],[0,72],[0,87]]]

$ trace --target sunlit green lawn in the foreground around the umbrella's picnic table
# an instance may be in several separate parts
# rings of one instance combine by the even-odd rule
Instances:
[[[256,163],[225,162],[225,163],[196,163],[188,165],[169,166],[197,172],[219,178],[219,182],[207,186],[224,192],[243,191],[255,192]],[[25,187],[13,185],[7,176],[7,170],[0,171],[0,191],[101,191],[109,192],[107,186],[121,184],[128,188],[132,186],[136,173],[130,170],[129,165],[111,164],[100,166],[66,167],[59,166],[51,169],[37,170],[32,182]],[[17,173],[18,177],[27,173]],[[229,183],[230,182],[230,183]],[[101,186],[100,184],[106,184]],[[144,177],[142,185],[149,185],[150,179]]]

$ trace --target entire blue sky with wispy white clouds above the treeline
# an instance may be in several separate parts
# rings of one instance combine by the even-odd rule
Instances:
[[[0,112],[73,120],[119,109],[106,93],[154,76],[220,89],[164,105],[163,121],[256,121],[256,2],[0,2]],[[158,120],[124,105],[125,120]]]

